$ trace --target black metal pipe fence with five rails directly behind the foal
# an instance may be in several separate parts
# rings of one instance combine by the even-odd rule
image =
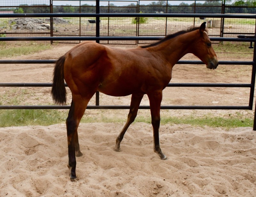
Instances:
[[[97,6],[96,6],[97,7]],[[96,36],[55,36],[55,37],[1,37],[0,41],[29,41],[29,40],[44,40],[44,41],[63,41],[63,40],[96,40],[100,42],[101,40],[159,40],[162,37],[158,36],[100,36],[100,18],[102,17],[164,17],[164,18],[180,18],[180,17],[190,17],[190,18],[249,18],[256,19],[255,15],[232,15],[232,14],[146,14],[146,13],[99,13],[96,9],[96,14],[92,13],[66,13],[66,14],[0,14],[0,18],[41,18],[41,17],[95,17],[96,19]],[[255,36],[240,36],[238,38],[223,38],[223,37],[210,37],[212,41],[232,41],[232,42],[256,42]],[[219,64],[222,65],[252,65],[252,75],[250,84],[169,84],[168,87],[243,87],[250,88],[249,103],[248,106],[161,106],[161,109],[243,109],[252,110],[253,107],[253,94],[255,87],[255,75],[256,75],[256,49],[254,47],[253,61],[220,61]],[[0,64],[30,64],[30,63],[54,63],[55,60],[1,60]],[[177,64],[203,64],[201,61],[179,61]],[[52,84],[45,83],[1,83],[1,87],[51,87]],[[98,93],[99,94],[99,93]],[[49,95],[50,96],[50,95]],[[70,106],[0,106],[0,109],[69,109]],[[99,101],[99,96],[96,96],[95,106],[88,106],[87,109],[129,109],[129,106],[101,106]],[[140,109],[149,109],[149,106],[140,106]],[[256,130],[256,118],[254,115],[254,125],[253,130]]]

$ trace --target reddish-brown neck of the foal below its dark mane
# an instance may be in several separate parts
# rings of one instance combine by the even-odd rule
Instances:
[[[176,36],[170,40],[166,40],[163,43],[155,46],[155,52],[157,51],[159,54],[161,54],[160,56],[174,66],[174,64],[176,64],[180,58],[188,53],[191,53],[191,47],[193,47],[192,43],[194,41],[193,38],[195,38],[196,33],[198,32],[188,32]]]

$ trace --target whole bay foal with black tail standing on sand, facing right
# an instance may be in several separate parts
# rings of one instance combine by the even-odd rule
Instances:
[[[77,128],[96,91],[118,97],[132,94],[127,121],[116,137],[116,151],[120,150],[124,134],[137,115],[143,95],[147,94],[154,151],[161,159],[167,158],[160,148],[158,132],[162,91],[172,78],[172,67],[188,53],[196,55],[207,68],[217,68],[218,59],[205,30],[205,22],[200,27],[179,31],[156,43],[133,49],[119,49],[84,41],[56,61],[52,98],[57,104],[66,103],[64,79],[72,93],[66,120],[71,181],[76,179],[76,156],[83,155],[79,148]]]

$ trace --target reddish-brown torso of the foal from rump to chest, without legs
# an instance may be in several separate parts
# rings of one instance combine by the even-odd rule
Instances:
[[[111,96],[147,93],[169,83],[171,72],[168,74],[163,64],[147,49],[82,42],[67,52],[64,78],[68,86],[82,82]]]

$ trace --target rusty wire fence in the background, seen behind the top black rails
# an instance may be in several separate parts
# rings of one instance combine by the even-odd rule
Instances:
[[[14,13],[95,13],[96,1],[77,0],[13,0],[1,1],[1,10]],[[222,0],[202,1],[158,1],[145,5],[139,1],[100,1],[100,13],[199,13],[199,14],[251,14],[256,6],[239,5]],[[174,3],[175,2],[175,3]],[[72,3],[72,4],[71,4]],[[122,3],[123,5],[119,5]],[[125,4],[125,5],[124,5]],[[4,12],[4,11],[2,11]],[[11,13],[11,12],[9,12]],[[0,36],[96,36],[95,17],[62,18],[0,18]],[[237,34],[254,35],[253,18],[214,18],[214,17],[102,17],[100,36],[165,36],[190,26],[207,22],[210,36],[236,37]],[[52,28],[51,28],[52,26]],[[118,44],[108,41],[104,43]],[[122,44],[131,44],[124,42]],[[137,42],[132,42],[136,44]]]

